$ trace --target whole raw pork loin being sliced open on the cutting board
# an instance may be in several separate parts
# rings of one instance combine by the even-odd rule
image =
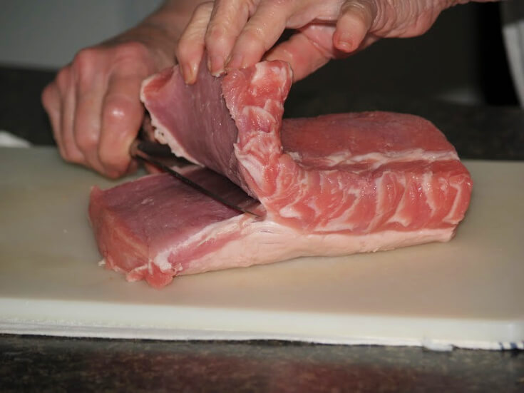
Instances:
[[[177,275],[453,237],[472,181],[435,126],[384,112],[282,121],[291,81],[287,63],[264,61],[222,78],[201,66],[193,86],[177,67],[143,83],[155,137],[201,165],[185,175],[260,217],[167,174],[93,188],[106,267],[162,287]]]

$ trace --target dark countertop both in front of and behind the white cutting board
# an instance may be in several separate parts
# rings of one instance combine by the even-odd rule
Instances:
[[[40,106],[51,71],[0,67],[0,130],[53,143]],[[524,111],[294,86],[286,116],[414,113],[436,123],[462,158],[524,160]],[[321,85],[322,86],[322,85]],[[524,392],[518,351],[280,341],[102,340],[0,335],[1,392]]]

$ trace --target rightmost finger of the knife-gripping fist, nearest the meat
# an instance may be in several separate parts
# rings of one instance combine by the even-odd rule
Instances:
[[[144,109],[140,103],[143,76],[113,75],[103,99],[98,157],[111,178],[123,175],[130,165],[129,147],[138,135]]]

